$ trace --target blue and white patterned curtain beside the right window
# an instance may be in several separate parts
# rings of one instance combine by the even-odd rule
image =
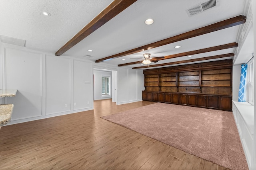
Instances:
[[[242,64],[241,65],[239,93],[238,93],[238,102],[245,102],[246,72],[247,72],[247,64]]]

